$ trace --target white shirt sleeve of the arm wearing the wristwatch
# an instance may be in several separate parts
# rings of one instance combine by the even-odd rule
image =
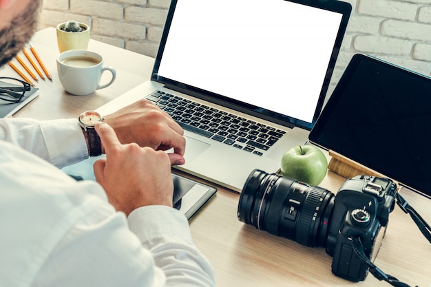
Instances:
[[[78,120],[0,119],[0,140],[65,167],[88,158],[88,149]]]

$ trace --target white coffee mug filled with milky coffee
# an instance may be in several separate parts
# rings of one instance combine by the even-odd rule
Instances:
[[[103,72],[112,73],[111,81],[101,85]],[[114,83],[114,67],[103,67],[103,56],[87,50],[69,50],[57,57],[57,72],[66,92],[84,96]]]

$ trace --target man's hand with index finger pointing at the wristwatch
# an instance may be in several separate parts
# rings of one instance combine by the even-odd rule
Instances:
[[[106,123],[95,128],[106,159],[94,162],[94,174],[116,210],[129,215],[140,206],[172,206],[174,184],[167,153],[135,143],[123,145]]]

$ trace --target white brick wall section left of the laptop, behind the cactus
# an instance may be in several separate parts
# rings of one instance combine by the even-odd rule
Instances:
[[[40,28],[76,20],[94,40],[156,56],[170,0],[44,0]]]

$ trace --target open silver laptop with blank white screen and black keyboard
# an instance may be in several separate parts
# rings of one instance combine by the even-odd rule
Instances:
[[[176,167],[234,191],[275,172],[322,109],[351,6],[319,0],[173,0],[151,81],[98,109],[148,98],[185,129]]]

